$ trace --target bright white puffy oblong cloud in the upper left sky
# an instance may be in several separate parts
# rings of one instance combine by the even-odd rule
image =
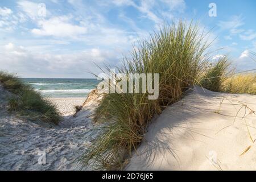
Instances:
[[[71,17],[69,16],[57,16],[48,20],[39,20],[38,25],[40,28],[34,28],[31,32],[39,36],[69,38],[77,38],[79,35],[86,33],[86,27],[77,26],[70,22]]]

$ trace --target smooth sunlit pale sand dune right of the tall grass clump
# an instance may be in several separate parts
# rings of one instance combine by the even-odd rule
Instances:
[[[252,110],[256,96],[196,87],[151,123],[126,169],[255,170]]]

